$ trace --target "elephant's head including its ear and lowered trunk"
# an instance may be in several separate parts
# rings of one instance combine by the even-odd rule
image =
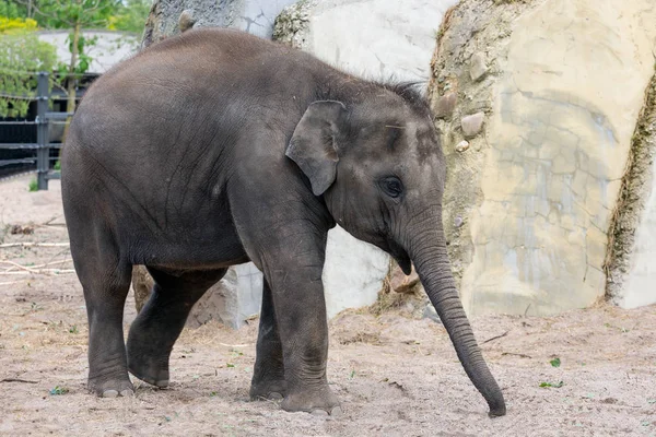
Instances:
[[[425,101],[408,86],[373,86],[358,101],[315,102],[296,126],[286,156],[339,225],[391,255],[406,274],[414,263],[490,415],[504,415],[503,394],[452,274],[442,225],[446,167]]]

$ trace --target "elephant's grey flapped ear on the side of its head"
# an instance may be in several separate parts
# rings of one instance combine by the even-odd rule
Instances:
[[[337,139],[345,127],[345,116],[341,102],[314,102],[296,125],[284,153],[307,176],[315,196],[321,196],[337,176]]]

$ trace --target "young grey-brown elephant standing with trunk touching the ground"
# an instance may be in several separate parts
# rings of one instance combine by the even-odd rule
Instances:
[[[411,263],[491,416],[503,393],[475,340],[442,225],[445,160],[425,97],[238,31],[192,29],[86,91],[61,157],[70,250],[89,317],[90,391],[169,381],[194,304],[230,265],[263,272],[251,399],[340,414],[328,386],[327,233]],[[132,265],[154,279],[131,323]]]

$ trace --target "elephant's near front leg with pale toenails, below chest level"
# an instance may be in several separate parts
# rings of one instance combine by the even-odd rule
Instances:
[[[338,415],[341,408],[326,377],[328,322],[321,283],[324,249],[317,255],[297,253],[304,253],[298,256],[302,260],[274,257],[276,265],[265,269],[282,343],[286,395],[281,406],[292,412]]]

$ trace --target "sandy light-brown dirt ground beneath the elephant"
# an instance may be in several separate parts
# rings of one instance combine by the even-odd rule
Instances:
[[[28,181],[0,182],[0,240],[66,243],[59,184],[31,193]],[[32,235],[11,233],[30,224]],[[653,306],[472,318],[508,405],[494,420],[442,326],[395,312],[331,320],[328,377],[341,417],[248,401],[257,320],[186,329],[171,388],[133,379],[133,398],[98,399],[84,387],[86,314],[69,260],[62,246],[0,248],[0,435],[656,436]],[[134,315],[130,295],[126,333]]]

